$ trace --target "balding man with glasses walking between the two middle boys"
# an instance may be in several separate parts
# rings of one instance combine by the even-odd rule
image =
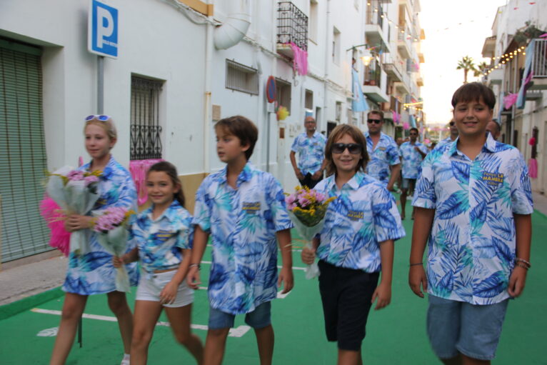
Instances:
[[[306,116],[305,132],[298,134],[291,146],[291,164],[301,186],[313,186],[323,179],[325,169],[326,138],[316,131],[317,123],[313,116]],[[298,164],[295,155],[298,153]]]

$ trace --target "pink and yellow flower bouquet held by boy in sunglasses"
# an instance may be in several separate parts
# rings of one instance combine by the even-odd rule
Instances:
[[[325,194],[308,189],[306,186],[296,186],[295,190],[293,194],[288,194],[285,198],[288,216],[293,221],[298,234],[306,241],[306,246],[311,248],[311,240],[323,229],[328,204],[336,198],[327,198]],[[306,267],[306,279],[312,279],[318,275],[317,263]]]

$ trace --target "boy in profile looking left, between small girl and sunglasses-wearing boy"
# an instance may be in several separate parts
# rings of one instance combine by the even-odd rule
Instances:
[[[246,324],[256,334],[261,363],[271,364],[271,301],[282,282],[282,293],[293,287],[293,224],[281,184],[249,163],[259,135],[256,126],[244,116],[232,116],[218,121],[215,133],[216,151],[226,167],[207,176],[196,193],[196,231],[187,276],[189,286],[198,289],[200,261],[211,235],[204,364],[221,364],[236,314],[246,314]],[[276,241],[283,261],[279,276]]]

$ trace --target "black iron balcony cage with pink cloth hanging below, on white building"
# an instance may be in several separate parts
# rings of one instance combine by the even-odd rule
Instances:
[[[308,16],[291,1],[278,2],[277,43],[293,43],[304,51],[308,50]]]

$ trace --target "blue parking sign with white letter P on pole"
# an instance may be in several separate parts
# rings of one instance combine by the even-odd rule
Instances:
[[[91,0],[87,48],[101,56],[118,57],[118,9]]]

